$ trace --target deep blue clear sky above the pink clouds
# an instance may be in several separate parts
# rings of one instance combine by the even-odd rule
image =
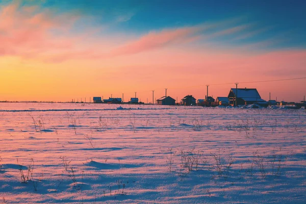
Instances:
[[[236,25],[251,23],[240,34],[247,38],[218,38],[228,44],[277,39],[275,48],[306,46],[306,1],[46,1],[44,7],[75,12],[93,19],[104,32],[142,35],[152,30],[177,28],[241,18]],[[234,39],[233,41],[231,41]]]

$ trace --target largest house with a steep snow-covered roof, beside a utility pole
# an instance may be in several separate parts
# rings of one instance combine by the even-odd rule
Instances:
[[[235,105],[249,105],[254,103],[266,103],[264,99],[262,99],[257,91],[257,89],[235,89],[231,88],[230,93],[228,93],[228,104]],[[236,104],[237,99],[237,104]]]

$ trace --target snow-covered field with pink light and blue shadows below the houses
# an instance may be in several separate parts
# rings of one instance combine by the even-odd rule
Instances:
[[[0,203],[305,203],[306,111],[0,104]]]

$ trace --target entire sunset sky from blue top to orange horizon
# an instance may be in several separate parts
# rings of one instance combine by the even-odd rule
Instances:
[[[300,101],[306,1],[1,1],[0,100],[165,94]],[[227,85],[214,85],[232,83]]]

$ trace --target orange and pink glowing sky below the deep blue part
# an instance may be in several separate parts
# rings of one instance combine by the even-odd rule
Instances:
[[[285,46],[282,33],[257,39],[273,27],[245,17],[137,32],[118,29],[137,12],[99,23],[72,9],[27,3],[0,5],[0,100],[89,101],[124,93],[126,101],[137,91],[151,102],[151,90],[159,98],[166,87],[180,100],[204,98],[205,84],[306,77],[304,47]],[[209,95],[226,96],[232,87],[210,86]],[[258,88],[264,99],[269,92],[288,101],[306,95],[306,80],[239,87]]]

